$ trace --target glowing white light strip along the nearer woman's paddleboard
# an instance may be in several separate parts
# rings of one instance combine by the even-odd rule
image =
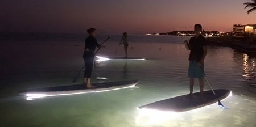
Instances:
[[[136,84],[133,84],[131,86],[127,86],[127,87],[121,87],[121,88],[113,88],[110,90],[100,90],[101,88],[96,88],[95,90],[97,91],[86,91],[86,92],[73,92],[73,93],[69,93],[69,94],[36,94],[36,92],[31,92],[31,93],[27,93],[27,100],[33,100],[35,98],[44,98],[47,96],[64,96],[64,95],[75,95],[75,94],[85,94],[85,93],[90,93],[90,92],[105,92],[105,91],[112,91],[112,90],[120,90],[120,89],[124,89],[124,88],[138,88],[135,87]],[[89,89],[85,89],[85,90],[89,90]]]

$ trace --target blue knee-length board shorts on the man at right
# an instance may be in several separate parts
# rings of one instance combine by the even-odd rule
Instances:
[[[204,63],[201,66],[197,66],[197,61],[189,61],[188,77],[190,78],[204,78]]]

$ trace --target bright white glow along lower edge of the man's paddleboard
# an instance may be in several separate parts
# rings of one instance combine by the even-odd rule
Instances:
[[[227,99],[229,96],[232,96],[231,91],[225,99]],[[225,99],[222,99],[222,100],[225,100]],[[218,103],[218,101],[216,103]],[[216,103],[213,103],[213,104],[216,104]],[[210,104],[210,105],[213,105],[213,104]],[[210,107],[210,105],[207,105],[201,108]],[[137,125],[159,125],[162,122],[165,122],[168,120],[174,120],[174,119],[179,119],[181,117],[184,117],[184,115],[187,115],[187,113],[197,112],[196,109],[185,111],[185,112],[160,111],[156,109],[147,109],[147,108],[141,108],[141,109],[137,108],[137,109],[139,111],[139,115],[135,118],[135,122]],[[197,109],[200,109],[200,108],[197,108]]]

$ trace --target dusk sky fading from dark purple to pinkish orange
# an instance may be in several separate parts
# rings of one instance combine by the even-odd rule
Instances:
[[[193,30],[232,31],[233,24],[256,24],[247,0],[1,0],[0,31],[121,34]]]

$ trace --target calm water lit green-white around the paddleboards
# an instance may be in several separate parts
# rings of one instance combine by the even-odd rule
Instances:
[[[121,35],[110,39],[97,55],[125,56]],[[146,61],[104,61],[96,64],[92,82],[139,79],[139,88],[26,100],[18,91],[63,86],[84,66],[84,41],[1,42],[0,126],[256,126],[256,55],[208,46],[205,74],[214,89],[232,90],[217,104],[183,113],[148,113],[137,107],[188,94],[189,51],[182,36],[129,36],[129,57]],[[105,65],[105,66],[100,66]],[[102,79],[103,78],[103,79]],[[82,74],[77,83],[82,83]],[[199,91],[195,80],[194,92]],[[205,90],[210,90],[205,81]]]

